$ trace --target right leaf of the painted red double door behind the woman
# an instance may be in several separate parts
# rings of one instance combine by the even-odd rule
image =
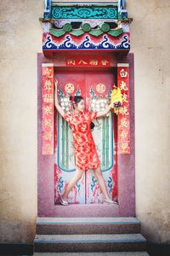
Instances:
[[[111,72],[88,73],[86,77],[88,108],[93,98],[109,96],[112,86],[116,82],[115,77]],[[101,171],[110,197],[116,200],[116,117],[110,112],[108,116],[94,120],[94,124],[93,136],[99,154]],[[88,204],[104,202],[93,170],[88,170],[86,173],[86,191]]]

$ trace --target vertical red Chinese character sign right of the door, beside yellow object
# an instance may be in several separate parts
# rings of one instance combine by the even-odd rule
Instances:
[[[130,154],[129,65],[117,64],[117,85],[122,91],[122,107],[118,108],[118,153]]]

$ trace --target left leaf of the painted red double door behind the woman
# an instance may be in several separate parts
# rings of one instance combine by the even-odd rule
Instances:
[[[85,74],[74,72],[59,72],[55,74],[59,81],[59,96],[82,95],[85,97]],[[66,107],[65,107],[66,108]],[[55,201],[63,194],[65,187],[74,176],[75,158],[71,127],[56,113],[56,145],[55,145]],[[85,203],[85,177],[72,189],[69,203]]]

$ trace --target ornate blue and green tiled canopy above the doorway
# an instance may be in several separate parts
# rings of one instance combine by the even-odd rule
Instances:
[[[44,55],[62,49],[130,49],[125,1],[63,3],[45,0],[42,20]],[[122,51],[123,52],[123,51]]]

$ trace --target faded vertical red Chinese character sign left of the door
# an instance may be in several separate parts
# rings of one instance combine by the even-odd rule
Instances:
[[[42,64],[42,154],[54,154],[54,64]]]

